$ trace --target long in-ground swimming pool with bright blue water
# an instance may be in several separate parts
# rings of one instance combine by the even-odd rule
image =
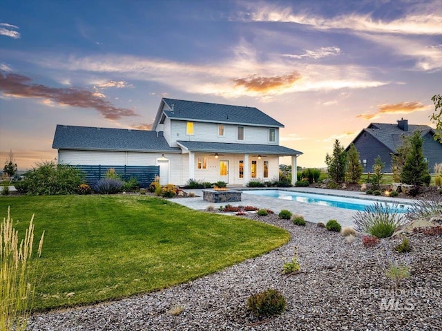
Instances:
[[[314,205],[322,205],[328,207],[338,207],[344,209],[361,210],[363,211],[365,207],[369,205],[374,205],[374,200],[365,199],[355,199],[355,198],[345,198],[341,196],[325,196],[323,194],[315,193],[302,193],[295,191],[282,191],[282,190],[250,190],[242,191],[244,194],[253,194],[255,196],[268,196],[270,198],[278,198],[282,200],[293,200],[298,202],[312,203]],[[384,202],[382,202],[384,203]],[[390,207],[392,207],[391,202],[387,202]],[[401,204],[398,205],[398,212],[406,212],[410,205]]]

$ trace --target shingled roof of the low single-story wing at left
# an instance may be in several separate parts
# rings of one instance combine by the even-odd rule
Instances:
[[[169,147],[162,132],[68,125],[57,125],[52,148],[181,153],[181,149]]]

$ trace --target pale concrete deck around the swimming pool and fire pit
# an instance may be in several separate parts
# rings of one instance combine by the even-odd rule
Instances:
[[[237,189],[241,191],[252,190],[255,188],[247,187],[229,187],[229,189]],[[367,196],[361,191],[343,191],[334,189],[316,189],[313,187],[287,187],[287,188],[270,188],[270,189],[280,189],[284,191],[294,191],[302,193],[316,193],[323,194],[327,196],[341,196],[345,198],[357,198],[364,200],[375,200],[380,202],[399,202],[402,204],[411,204],[416,200],[413,199],[403,199],[403,198],[387,198],[383,196]],[[171,200],[172,202],[184,205],[191,209],[205,210],[209,206],[218,209],[220,206],[227,205],[225,202],[208,202],[202,200],[202,189],[186,189],[187,193],[193,192],[196,194],[195,198],[175,198]],[[307,202],[298,202],[291,200],[282,200],[278,198],[270,198],[267,196],[254,196],[252,194],[242,193],[242,200],[238,202],[230,202],[232,206],[255,206],[258,208],[271,209],[275,214],[279,214],[282,209],[288,209],[293,214],[300,214],[304,216],[305,220],[311,223],[327,223],[328,220],[334,219],[338,220],[340,225],[343,227],[352,226],[353,216],[356,214],[356,210],[343,209],[337,207],[328,207],[322,205],[314,205]]]

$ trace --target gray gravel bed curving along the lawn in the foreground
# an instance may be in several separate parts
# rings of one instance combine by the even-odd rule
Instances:
[[[28,330],[442,330],[441,236],[414,234],[414,250],[398,254],[399,239],[366,248],[361,236],[349,242],[313,223],[300,227],[276,215],[247,217],[287,229],[291,240],[166,290],[35,314]],[[284,275],[282,265],[294,246],[301,272]],[[410,277],[398,287],[385,276],[392,259],[410,266]],[[287,309],[258,320],[247,311],[247,298],[268,288],[282,292]]]

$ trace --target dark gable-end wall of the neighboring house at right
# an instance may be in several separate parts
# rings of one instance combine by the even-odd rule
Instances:
[[[364,167],[363,172],[373,172],[374,160],[381,156],[381,161],[385,163],[383,172],[392,172],[392,156],[390,149],[384,144],[381,144],[369,133],[362,133],[354,141],[354,146],[359,152],[361,163],[367,160],[367,166]]]

